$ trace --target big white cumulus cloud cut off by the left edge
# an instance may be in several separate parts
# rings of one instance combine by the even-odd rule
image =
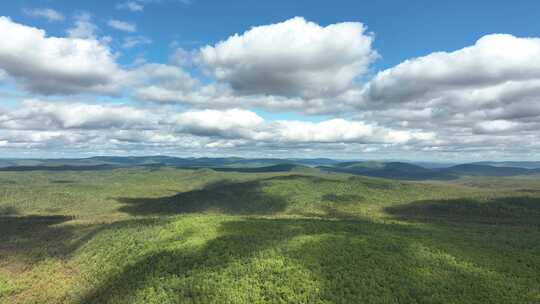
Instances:
[[[96,39],[48,37],[45,31],[0,17],[0,69],[38,94],[113,94],[121,74],[109,48]]]

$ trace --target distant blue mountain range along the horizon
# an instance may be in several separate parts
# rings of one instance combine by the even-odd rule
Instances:
[[[80,159],[0,159],[0,171],[110,170],[144,166],[211,168],[236,172],[317,171],[404,180],[450,180],[462,176],[540,175],[540,162],[476,162],[460,165],[384,161],[338,161],[328,158],[180,158],[170,156],[97,156]]]

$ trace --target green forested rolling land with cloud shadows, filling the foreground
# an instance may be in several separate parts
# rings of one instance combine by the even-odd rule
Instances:
[[[0,172],[0,302],[540,297],[537,179],[468,187],[270,168]]]

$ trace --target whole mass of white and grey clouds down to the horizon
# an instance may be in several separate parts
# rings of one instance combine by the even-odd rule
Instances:
[[[460,50],[406,60],[362,84],[358,77],[377,54],[360,23],[294,18],[199,50],[177,49],[166,64],[126,66],[97,30],[87,14],[77,16],[68,37],[0,17],[0,38],[10,41],[0,44],[0,79],[30,94],[135,99],[26,100],[0,111],[2,149],[379,158],[540,151],[538,38],[488,35]],[[126,37],[121,46],[146,39]],[[267,120],[253,109],[326,117]]]

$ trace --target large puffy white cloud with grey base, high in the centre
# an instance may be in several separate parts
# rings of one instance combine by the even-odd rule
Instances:
[[[296,17],[200,50],[199,62],[240,94],[333,96],[377,57],[362,23],[322,27]]]

